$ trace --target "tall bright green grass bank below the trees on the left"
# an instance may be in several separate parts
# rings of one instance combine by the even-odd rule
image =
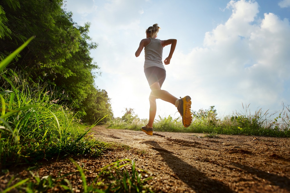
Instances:
[[[12,91],[0,92],[0,168],[8,164],[37,162],[64,155],[100,155],[106,145],[84,137],[75,114],[55,103],[46,85],[23,77],[1,76]]]

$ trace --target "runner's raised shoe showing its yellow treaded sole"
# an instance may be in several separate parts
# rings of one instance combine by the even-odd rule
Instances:
[[[189,127],[192,121],[190,108],[191,108],[190,96],[185,96],[183,98],[180,97],[177,110],[182,117],[182,124],[184,127]]]

